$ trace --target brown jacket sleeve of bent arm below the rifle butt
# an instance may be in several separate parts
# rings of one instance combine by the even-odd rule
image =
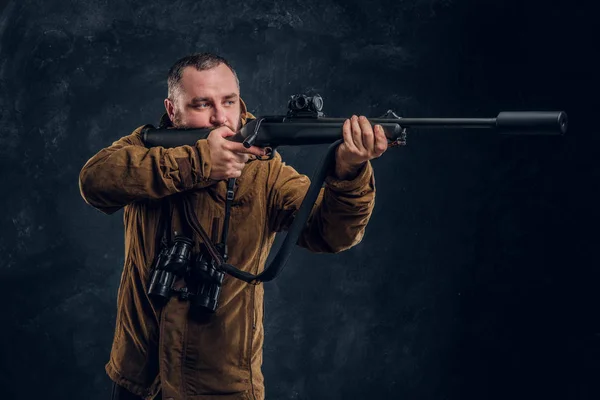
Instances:
[[[195,146],[146,148],[136,129],[102,149],[83,166],[79,190],[92,207],[112,214],[142,199],[159,199],[210,185],[210,152],[206,140]]]

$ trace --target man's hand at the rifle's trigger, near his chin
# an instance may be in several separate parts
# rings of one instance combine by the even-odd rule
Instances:
[[[213,180],[238,178],[250,155],[260,157],[266,154],[260,147],[252,146],[247,149],[241,143],[226,139],[233,135],[235,132],[229,127],[221,126],[207,137],[211,159],[210,178]]]

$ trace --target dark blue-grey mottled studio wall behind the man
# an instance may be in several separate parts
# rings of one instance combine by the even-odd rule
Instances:
[[[298,249],[267,285],[267,398],[599,398],[600,35],[587,3],[3,2],[1,397],[108,398],[122,213],[87,206],[78,173],[156,123],[169,66],[208,50],[259,115],[313,90],[331,116],[571,119],[562,138],[415,131],[376,160],[363,242]],[[311,173],[322,149],[282,154]]]

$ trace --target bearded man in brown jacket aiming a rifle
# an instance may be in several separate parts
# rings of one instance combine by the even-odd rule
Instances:
[[[101,150],[83,167],[83,198],[107,214],[125,207],[125,265],[118,294],[115,336],[106,372],[113,398],[263,399],[263,287],[226,276],[214,315],[190,317],[189,301],[166,304],[148,296],[164,204],[176,194],[191,199],[200,225],[219,234],[227,179],[237,178],[228,235],[228,262],[258,274],[275,233],[286,230],[309,179],[277,155],[246,149],[228,137],[253,116],[240,98],[237,75],[216,55],[195,54],[170,70],[167,114],[174,127],[214,128],[195,146],[146,148],[141,128]],[[375,188],[369,160],[387,148],[381,126],[353,116],[344,142],[299,244],[339,252],[357,244],[370,218]],[[168,228],[184,230],[182,213],[170,208]],[[197,248],[198,243],[195,244]]]

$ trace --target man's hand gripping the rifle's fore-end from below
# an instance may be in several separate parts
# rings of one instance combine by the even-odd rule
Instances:
[[[335,174],[339,179],[353,179],[369,160],[381,156],[388,140],[381,125],[371,126],[369,120],[353,115],[342,128],[344,143],[336,151]]]

